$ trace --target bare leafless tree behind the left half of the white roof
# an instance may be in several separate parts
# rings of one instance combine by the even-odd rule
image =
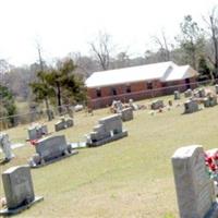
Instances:
[[[107,33],[99,33],[95,41],[89,43],[92,52],[95,55],[99,66],[102,70],[108,70],[111,56],[111,36]]]

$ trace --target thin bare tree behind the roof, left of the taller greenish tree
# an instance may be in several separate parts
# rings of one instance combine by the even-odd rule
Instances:
[[[162,60],[170,61],[170,50],[165,32],[164,31],[161,32],[160,37],[154,36],[153,38],[155,43],[159,46],[159,51],[160,55],[162,56]]]

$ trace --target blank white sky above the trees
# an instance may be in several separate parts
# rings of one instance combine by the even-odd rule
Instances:
[[[111,35],[116,52],[143,56],[152,37],[180,33],[184,15],[199,25],[218,0],[0,0],[0,59],[14,65],[37,61],[36,41],[47,61],[70,52],[90,55],[99,32]]]

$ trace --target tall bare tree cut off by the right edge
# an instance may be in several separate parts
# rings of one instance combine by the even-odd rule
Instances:
[[[209,16],[207,19],[203,17],[207,24],[209,35],[211,37],[213,55],[214,57],[208,57],[209,61],[215,68],[215,74],[218,75],[218,13],[217,7],[214,7]]]

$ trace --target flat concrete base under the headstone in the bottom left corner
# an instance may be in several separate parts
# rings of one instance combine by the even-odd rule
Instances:
[[[14,209],[9,209],[9,208],[1,209],[0,215],[2,215],[2,216],[16,215],[16,214],[23,211],[24,209],[32,207],[34,204],[41,202],[43,199],[44,199],[44,197],[36,196],[35,199],[33,202],[31,202],[29,204],[23,205],[21,207],[14,208]]]

